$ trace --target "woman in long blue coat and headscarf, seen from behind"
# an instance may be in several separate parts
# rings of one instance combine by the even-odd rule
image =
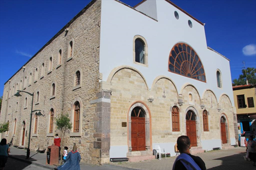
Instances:
[[[68,156],[66,158],[66,163],[58,166],[57,169],[58,170],[80,170],[80,160],[81,160],[81,156],[79,154],[79,152],[77,151],[76,146],[73,147],[73,150],[71,150],[71,152],[68,153]]]

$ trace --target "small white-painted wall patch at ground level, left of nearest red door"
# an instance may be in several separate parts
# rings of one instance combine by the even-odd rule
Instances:
[[[109,158],[126,158],[128,146],[110,146]]]

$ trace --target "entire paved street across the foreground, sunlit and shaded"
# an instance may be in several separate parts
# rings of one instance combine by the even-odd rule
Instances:
[[[24,149],[17,149],[11,147],[11,156],[6,164],[6,169],[53,169],[55,166],[46,166],[45,165],[45,154],[38,154],[37,152],[31,152],[31,158],[29,161],[33,164],[29,164],[24,162],[26,158],[26,150]],[[245,148],[244,147],[237,147],[230,150],[215,150],[205,152],[203,154],[198,154],[196,156],[201,157],[207,169],[211,170],[226,170],[226,169],[255,169],[256,167],[252,166],[252,162],[248,162],[244,160],[245,156]],[[20,160],[17,160],[20,159]],[[173,162],[175,157],[163,158],[161,160],[154,159],[154,160],[147,160],[142,161],[139,163],[127,163],[127,162],[120,162],[120,163],[109,163],[102,166],[96,165],[88,165],[81,163],[81,169],[99,169],[99,170],[117,170],[117,169],[172,169]],[[45,166],[45,167],[42,167]],[[75,170],[75,169],[74,169]]]

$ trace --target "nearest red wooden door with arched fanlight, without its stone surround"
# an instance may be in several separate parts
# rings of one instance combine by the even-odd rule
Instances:
[[[132,151],[146,150],[145,111],[135,107],[131,113]]]

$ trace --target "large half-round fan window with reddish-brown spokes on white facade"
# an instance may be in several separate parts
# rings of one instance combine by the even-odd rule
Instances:
[[[195,50],[185,43],[174,45],[169,56],[169,71],[206,82],[204,66]]]

